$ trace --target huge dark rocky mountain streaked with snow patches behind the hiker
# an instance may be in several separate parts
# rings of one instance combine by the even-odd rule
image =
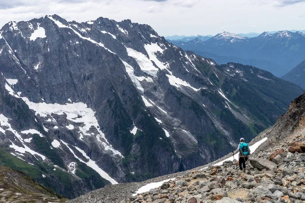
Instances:
[[[0,33],[0,161],[68,198],[215,160],[303,91],[130,20],[53,15]]]

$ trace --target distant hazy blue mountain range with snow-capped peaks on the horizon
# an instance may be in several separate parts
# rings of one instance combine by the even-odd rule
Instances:
[[[198,42],[198,39],[173,42],[184,50],[192,50],[208,57],[216,55],[216,62],[239,62],[257,66],[275,76],[283,76],[304,60],[305,36],[287,30],[270,34],[263,32],[258,37],[245,38],[229,32],[219,33],[213,38]]]

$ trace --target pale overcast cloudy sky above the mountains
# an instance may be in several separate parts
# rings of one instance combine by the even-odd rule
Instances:
[[[305,29],[305,0],[0,0],[0,27],[57,14],[149,24],[162,36]]]

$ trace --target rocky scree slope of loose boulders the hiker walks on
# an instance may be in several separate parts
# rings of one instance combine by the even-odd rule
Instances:
[[[202,166],[193,171],[160,177],[159,187],[130,196],[145,183],[107,187],[71,202],[303,202],[305,200],[305,93],[292,101],[286,114],[263,131],[256,141],[267,138],[251,155],[245,171],[237,163]],[[230,156],[230,155],[229,155]],[[226,158],[226,157],[224,157]],[[123,189],[125,188],[125,189]],[[117,189],[117,190],[116,190]],[[107,195],[106,195],[107,194]],[[114,196],[116,195],[116,196]]]

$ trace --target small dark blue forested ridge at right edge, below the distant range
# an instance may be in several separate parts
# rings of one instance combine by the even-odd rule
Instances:
[[[305,88],[305,60],[295,66],[289,73],[284,75],[282,79],[293,82],[302,88]]]

